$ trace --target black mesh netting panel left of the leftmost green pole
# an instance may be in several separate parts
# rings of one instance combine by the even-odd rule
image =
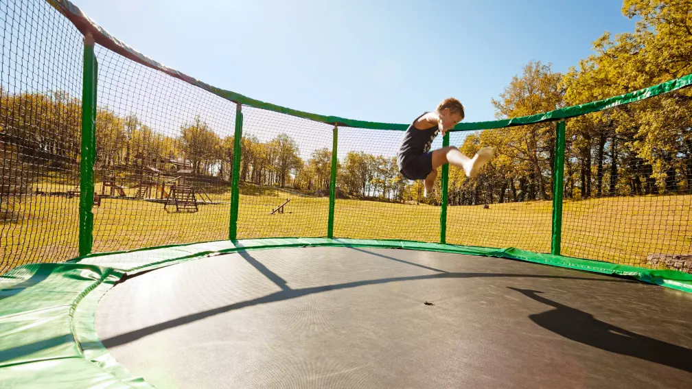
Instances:
[[[0,1],[0,273],[78,253],[82,34],[43,1]]]

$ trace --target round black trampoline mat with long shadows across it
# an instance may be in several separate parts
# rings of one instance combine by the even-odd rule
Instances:
[[[207,257],[117,284],[96,329],[158,388],[692,388],[692,294],[491,257]]]

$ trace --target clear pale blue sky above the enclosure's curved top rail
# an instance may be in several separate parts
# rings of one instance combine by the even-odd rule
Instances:
[[[529,60],[554,71],[608,30],[634,29],[617,0],[73,0],[167,66],[246,96],[317,114],[408,123],[447,96],[466,120]]]

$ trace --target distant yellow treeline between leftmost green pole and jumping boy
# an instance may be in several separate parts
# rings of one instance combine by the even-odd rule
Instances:
[[[230,181],[234,137],[219,136],[199,117],[183,125],[175,138],[153,132],[136,116],[118,118],[107,110],[98,112],[96,123],[99,170],[120,167],[131,171],[147,165],[171,173],[190,169],[199,178]],[[241,150],[242,182],[329,194],[331,150],[314,150],[302,159],[298,142],[288,134],[266,142],[244,136]],[[337,182],[340,191],[351,197],[404,201],[410,192],[396,159],[363,152],[349,152],[339,161]]]

